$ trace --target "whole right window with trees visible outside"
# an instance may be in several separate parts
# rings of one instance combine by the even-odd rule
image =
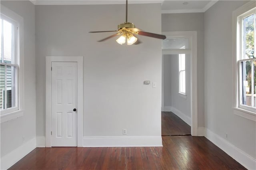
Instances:
[[[256,112],[256,8],[236,14],[236,107],[255,115]]]

